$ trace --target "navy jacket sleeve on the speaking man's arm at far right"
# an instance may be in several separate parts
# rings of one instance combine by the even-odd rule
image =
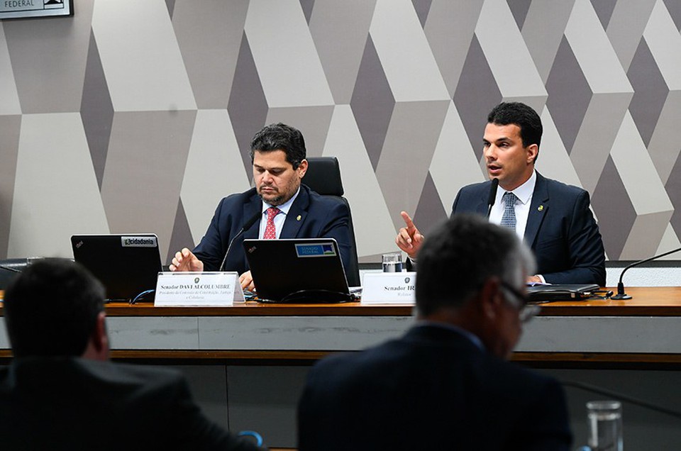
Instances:
[[[541,273],[551,284],[605,285],[605,251],[598,225],[589,209],[589,193],[582,191],[575,201],[567,230],[570,269]]]

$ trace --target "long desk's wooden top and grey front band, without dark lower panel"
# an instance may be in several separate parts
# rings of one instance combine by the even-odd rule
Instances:
[[[681,287],[627,292],[633,299],[543,304],[525,325],[514,359],[681,363]],[[360,303],[109,304],[106,311],[112,355],[119,358],[316,360],[397,337],[414,323],[411,306]],[[0,333],[0,357],[8,355],[9,343]]]

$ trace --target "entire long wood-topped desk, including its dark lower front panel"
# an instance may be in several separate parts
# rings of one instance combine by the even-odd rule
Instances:
[[[544,304],[540,315],[524,326],[514,360],[561,380],[675,408],[681,384],[681,288],[627,291],[630,301]],[[289,447],[296,443],[297,401],[314,360],[397,337],[414,323],[411,306],[358,303],[247,302],[226,308],[111,304],[106,311],[113,357],[176,367],[215,421],[226,423],[228,415],[233,430],[258,430],[270,445]],[[10,355],[0,318],[0,364]],[[660,368],[665,371],[651,371]],[[585,437],[584,403],[592,395],[569,388],[566,394],[572,425],[577,436]],[[645,428],[650,413],[636,420],[634,409],[626,408],[627,436],[634,430],[652,434]],[[677,424],[660,428],[660,421],[665,418],[655,417],[655,435],[673,442],[669,431],[677,430]]]

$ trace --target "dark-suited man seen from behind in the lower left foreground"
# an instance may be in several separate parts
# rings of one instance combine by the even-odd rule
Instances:
[[[179,372],[109,362],[102,299],[67,260],[35,262],[5,291],[3,450],[260,449],[209,421]]]

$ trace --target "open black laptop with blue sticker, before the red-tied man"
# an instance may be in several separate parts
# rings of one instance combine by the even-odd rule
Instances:
[[[333,238],[243,240],[243,249],[259,301],[353,300],[341,252]]]

